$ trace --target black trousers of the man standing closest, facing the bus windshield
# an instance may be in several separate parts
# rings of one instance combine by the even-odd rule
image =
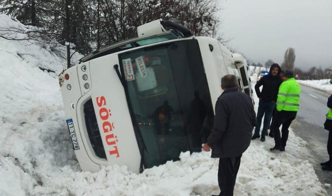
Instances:
[[[239,171],[241,155],[219,159],[218,185],[219,196],[232,196],[234,192],[235,180]]]

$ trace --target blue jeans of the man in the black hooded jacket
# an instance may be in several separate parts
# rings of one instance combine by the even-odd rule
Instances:
[[[259,100],[258,111],[257,111],[257,125],[255,128],[254,135],[259,136],[259,132],[261,129],[261,124],[262,124],[262,118],[265,113],[264,122],[263,122],[263,130],[262,130],[262,137],[265,137],[265,135],[268,131],[268,128],[270,127],[271,117],[272,117],[273,109],[275,106],[276,106],[276,103],[274,103],[272,101]]]

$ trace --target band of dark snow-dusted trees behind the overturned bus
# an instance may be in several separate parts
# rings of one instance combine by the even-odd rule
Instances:
[[[37,26],[35,40],[67,46],[86,55],[103,46],[136,37],[136,27],[170,19],[195,35],[210,36],[223,43],[218,0],[0,0],[0,13]],[[20,30],[21,31],[21,30]],[[22,30],[23,33],[25,33]],[[2,38],[15,39],[0,34]],[[31,40],[31,37],[27,38]],[[24,39],[26,40],[26,39]],[[69,45],[70,44],[70,45]],[[55,46],[54,46],[55,47]],[[51,46],[53,48],[53,46]]]

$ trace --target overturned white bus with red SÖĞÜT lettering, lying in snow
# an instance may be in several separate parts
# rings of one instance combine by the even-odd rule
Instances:
[[[170,21],[99,49],[59,75],[74,152],[83,171],[144,168],[201,150],[213,125],[220,79],[252,94],[247,65],[218,40]]]

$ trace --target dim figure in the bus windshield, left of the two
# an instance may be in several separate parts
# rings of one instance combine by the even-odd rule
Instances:
[[[156,126],[157,134],[161,134],[162,125],[164,126],[164,134],[167,135],[171,131],[171,112],[173,111],[172,106],[168,104],[168,101],[164,101],[162,106],[159,106],[154,111],[154,123]]]

